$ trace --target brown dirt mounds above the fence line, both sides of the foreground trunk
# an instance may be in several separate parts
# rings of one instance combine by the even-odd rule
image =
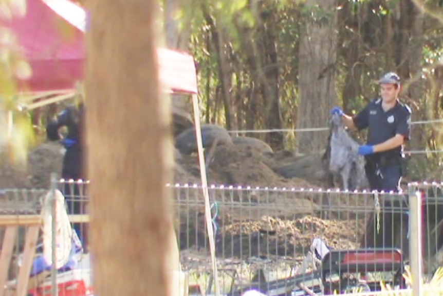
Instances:
[[[245,140],[246,139],[246,140]],[[252,138],[219,144],[205,150],[208,183],[251,187],[324,187],[313,173],[322,170],[321,155],[294,155],[290,151],[270,152]],[[260,145],[259,145],[260,144]],[[209,153],[208,153],[209,151]],[[49,188],[51,172],[61,175],[63,147],[44,143],[29,152],[28,164],[16,166],[2,157],[0,188]],[[198,155],[174,150],[174,183],[201,184]]]

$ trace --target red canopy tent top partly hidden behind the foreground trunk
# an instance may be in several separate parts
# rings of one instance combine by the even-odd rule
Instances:
[[[69,0],[26,0],[26,14],[0,19],[17,40],[17,51],[32,68],[17,81],[21,93],[69,91],[83,79],[86,11]],[[65,32],[65,34],[64,34]],[[192,56],[159,48],[160,80],[165,91],[197,93]]]

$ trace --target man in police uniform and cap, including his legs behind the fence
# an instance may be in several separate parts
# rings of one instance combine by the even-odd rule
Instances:
[[[401,84],[397,74],[386,73],[378,80],[378,84],[381,96],[369,102],[356,116],[344,114],[339,107],[331,109],[331,114],[340,114],[350,129],[368,128],[366,145],[360,146],[358,152],[365,156],[366,177],[371,190],[398,192],[404,173],[403,145],[410,138],[412,112],[398,100]],[[389,208],[390,202],[381,206],[379,233],[375,234],[373,218],[373,221],[368,222],[363,245],[395,246],[404,252],[408,251],[407,235],[404,233],[404,225],[408,225],[407,215],[393,213]],[[397,240],[398,236],[401,241]]]

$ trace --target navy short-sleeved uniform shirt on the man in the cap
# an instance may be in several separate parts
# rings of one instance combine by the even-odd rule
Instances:
[[[354,117],[354,124],[358,130],[368,128],[367,145],[383,143],[396,134],[409,140],[411,135],[411,109],[397,101],[397,105],[388,111],[381,107],[381,99],[372,100]],[[401,153],[402,147],[391,151]],[[386,151],[388,152],[388,151]]]

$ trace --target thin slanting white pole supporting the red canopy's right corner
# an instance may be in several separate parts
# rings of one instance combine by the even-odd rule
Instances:
[[[211,252],[215,295],[219,296],[220,295],[220,287],[218,286],[217,264],[216,264],[216,259],[215,259],[214,231],[212,229],[212,217],[211,217],[211,207],[209,204],[209,191],[208,191],[208,180],[207,180],[207,175],[206,175],[205,155],[203,154],[203,143],[201,140],[200,112],[199,112],[199,108],[198,108],[198,97],[196,94],[192,95],[192,104],[194,107],[195,137],[197,139],[198,161],[200,164],[200,176],[201,176],[201,187],[203,190],[203,195],[205,197],[206,228],[208,230],[209,250]]]

